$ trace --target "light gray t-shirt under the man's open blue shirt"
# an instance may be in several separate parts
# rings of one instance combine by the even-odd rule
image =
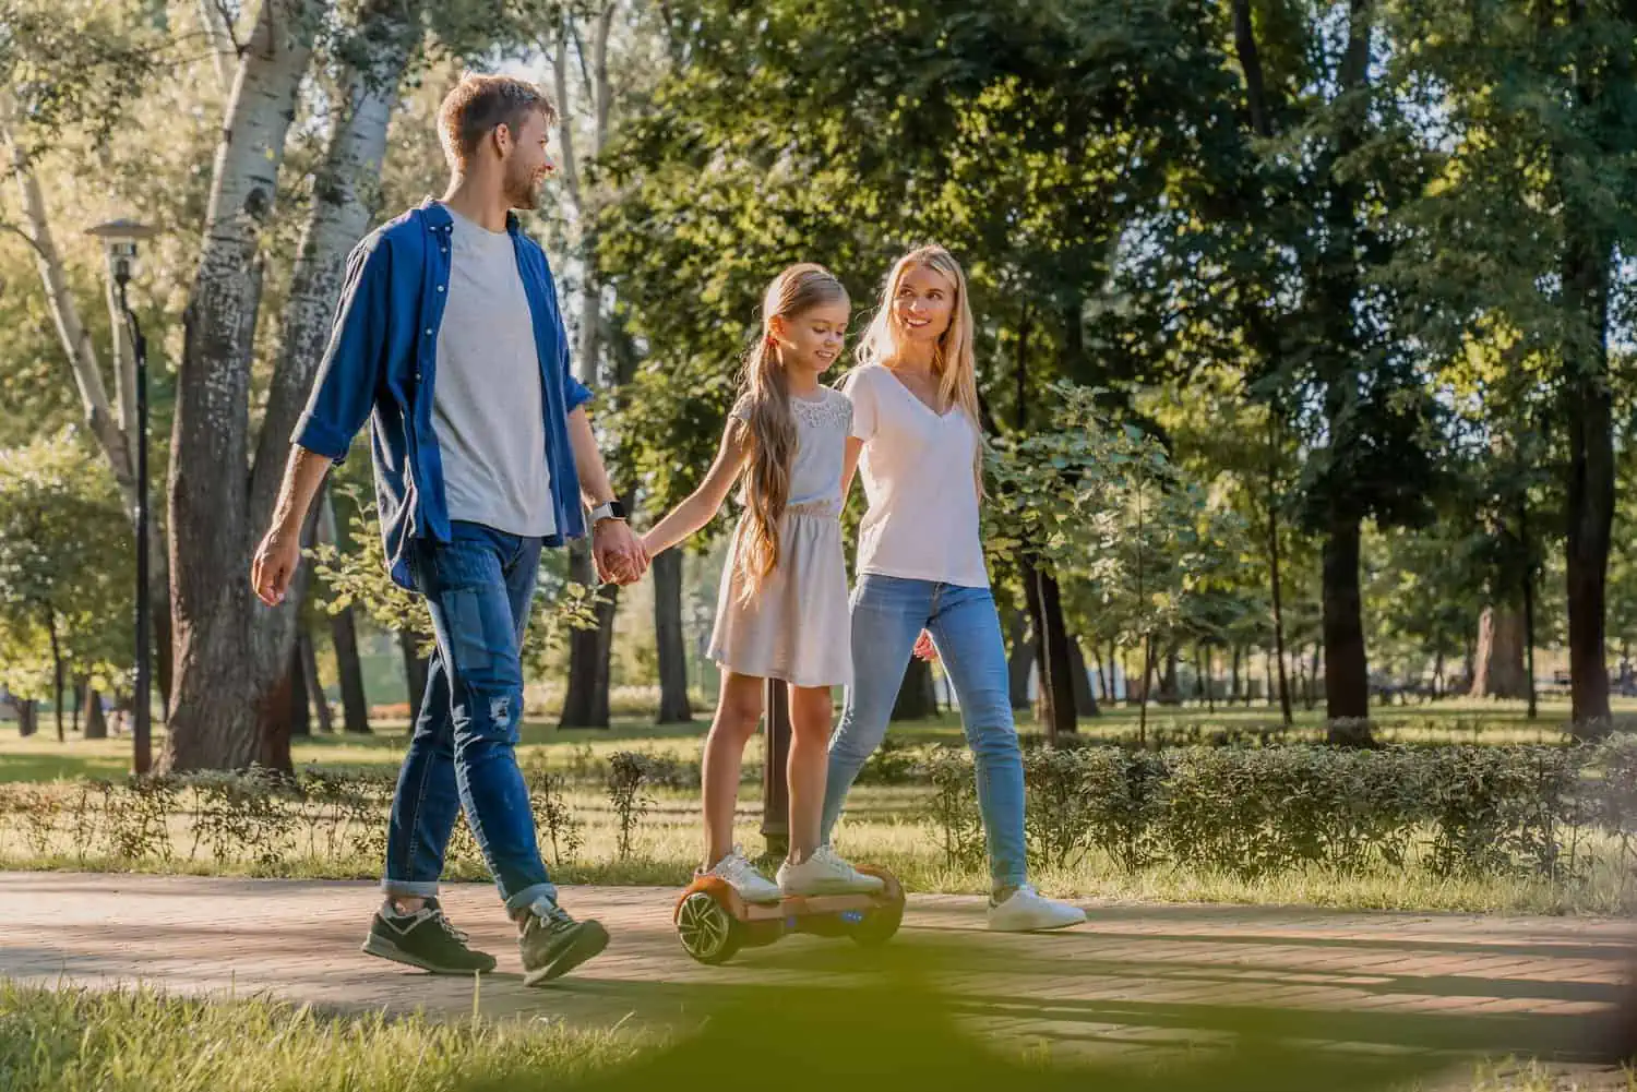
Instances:
[[[450,210],[449,301],[437,332],[432,427],[449,517],[550,535],[540,357],[511,234]]]

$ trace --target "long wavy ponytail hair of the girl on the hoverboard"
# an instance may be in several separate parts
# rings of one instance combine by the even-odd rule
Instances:
[[[779,519],[791,499],[791,463],[796,460],[791,386],[773,339],[773,319],[778,316],[789,323],[802,311],[827,303],[848,303],[841,282],[823,265],[791,265],[768,285],[761,298],[761,336],[745,354],[745,375],[735,408],[750,440],[745,527],[738,550],[745,599],[761,589],[779,563]]]

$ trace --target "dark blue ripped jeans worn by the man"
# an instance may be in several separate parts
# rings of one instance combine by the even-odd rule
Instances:
[[[388,896],[435,896],[455,814],[465,809],[506,909],[517,910],[539,896],[557,897],[516,751],[522,725],[519,650],[540,539],[468,522],[452,524],[452,539],[409,545],[409,570],[432,612],[437,648],[393,794],[381,889]]]

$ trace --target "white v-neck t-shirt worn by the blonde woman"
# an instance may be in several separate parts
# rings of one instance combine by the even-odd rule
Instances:
[[[977,429],[959,406],[941,417],[879,363],[846,373],[858,473],[869,509],[858,530],[858,575],[987,588],[972,458]]]

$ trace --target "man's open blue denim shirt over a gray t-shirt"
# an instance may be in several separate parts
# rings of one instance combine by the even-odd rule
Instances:
[[[586,534],[568,414],[589,401],[591,391],[568,373],[568,336],[545,250],[522,234],[517,216],[507,216],[506,229],[517,252],[540,357],[545,463],[557,521],[557,534],[545,544],[561,545]],[[444,463],[432,429],[432,388],[437,331],[449,300],[452,231],[449,210],[427,200],[352,250],[329,347],[290,437],[291,444],[339,463],[363,421],[370,421],[381,542],[393,581],[403,588],[413,588],[404,550],[409,540],[450,539]]]

